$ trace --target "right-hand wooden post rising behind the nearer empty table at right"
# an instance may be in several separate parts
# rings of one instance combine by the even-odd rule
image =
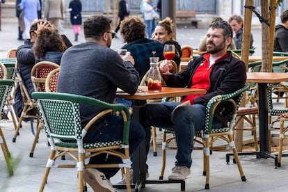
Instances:
[[[262,19],[267,19],[270,21],[269,15],[269,4],[266,0],[261,0],[261,10],[262,10]],[[272,71],[272,63],[270,58],[270,27],[268,24],[262,22],[262,72],[271,72]]]

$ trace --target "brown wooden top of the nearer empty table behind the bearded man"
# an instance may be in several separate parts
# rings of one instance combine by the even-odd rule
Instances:
[[[288,81],[288,74],[285,72],[248,72],[246,81],[253,83],[279,83]]]

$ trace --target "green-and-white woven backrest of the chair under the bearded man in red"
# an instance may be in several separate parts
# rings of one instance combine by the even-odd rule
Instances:
[[[246,83],[246,85],[243,88],[233,93],[228,93],[225,95],[216,95],[209,100],[206,106],[205,134],[215,133],[217,131],[220,132],[229,131],[234,126],[237,116],[237,109],[241,104],[243,93],[246,90],[248,90],[249,87],[250,87],[249,83]],[[237,99],[234,100],[234,98]],[[233,105],[234,111],[232,117],[229,120],[230,124],[229,127],[222,127],[221,129],[212,129],[213,118],[215,117],[214,112],[218,104],[221,104],[221,102],[231,102],[231,104]]]

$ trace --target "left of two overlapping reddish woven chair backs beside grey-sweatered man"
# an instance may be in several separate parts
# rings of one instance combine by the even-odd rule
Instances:
[[[45,81],[49,72],[58,67],[60,67],[58,64],[50,61],[41,61],[33,66],[31,70],[31,80],[35,91],[45,91]]]

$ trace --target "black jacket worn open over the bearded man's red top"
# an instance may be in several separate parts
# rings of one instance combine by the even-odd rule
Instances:
[[[227,93],[233,93],[240,88],[243,88],[246,82],[246,65],[243,61],[234,58],[230,51],[228,56],[222,61],[218,61],[214,64],[210,73],[210,87],[205,95],[193,99],[195,104],[207,105],[209,100],[216,95],[223,95]],[[203,54],[204,55],[204,54]],[[188,65],[179,73],[172,74],[166,81],[167,86],[171,87],[191,87],[191,79],[197,67],[205,60],[203,55],[199,58],[194,58],[189,61]],[[237,98],[234,98],[237,99]],[[220,107],[220,106],[219,106]],[[232,107],[222,106],[227,111],[218,109],[223,112],[224,116],[217,117],[218,120],[227,125],[227,119],[232,114]]]

